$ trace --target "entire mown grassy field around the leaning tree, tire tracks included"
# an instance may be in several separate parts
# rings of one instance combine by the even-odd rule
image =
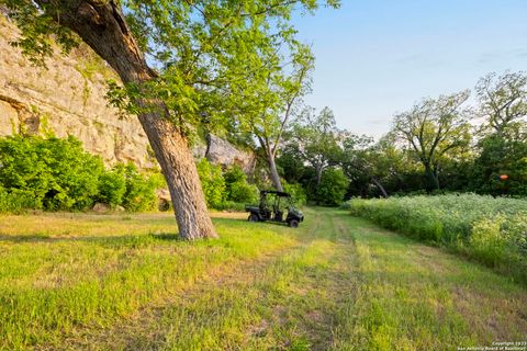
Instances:
[[[452,350],[527,340],[527,290],[346,212],[0,216],[0,349]]]

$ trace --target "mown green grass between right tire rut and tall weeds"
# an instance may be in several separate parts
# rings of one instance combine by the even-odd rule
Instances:
[[[527,293],[440,249],[343,215],[357,231],[359,288],[336,349],[455,350],[527,339]]]

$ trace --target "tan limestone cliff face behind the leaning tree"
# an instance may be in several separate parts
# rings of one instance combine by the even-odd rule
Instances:
[[[106,165],[133,161],[156,166],[148,140],[135,116],[122,116],[105,100],[106,80],[114,73],[88,48],[47,59],[47,69],[31,65],[10,45],[19,31],[0,13],[0,136],[14,133],[74,135]],[[116,77],[113,77],[116,78]],[[222,166],[240,165],[247,172],[251,152],[211,136],[198,143],[195,157]]]

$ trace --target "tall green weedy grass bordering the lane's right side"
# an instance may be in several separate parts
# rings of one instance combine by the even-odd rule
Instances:
[[[527,201],[475,194],[354,199],[351,214],[527,282]]]

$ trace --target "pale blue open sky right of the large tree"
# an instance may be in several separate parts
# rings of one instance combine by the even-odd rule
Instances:
[[[343,128],[379,137],[422,98],[527,70],[527,0],[341,2],[294,23],[316,57],[306,103],[329,106]]]

